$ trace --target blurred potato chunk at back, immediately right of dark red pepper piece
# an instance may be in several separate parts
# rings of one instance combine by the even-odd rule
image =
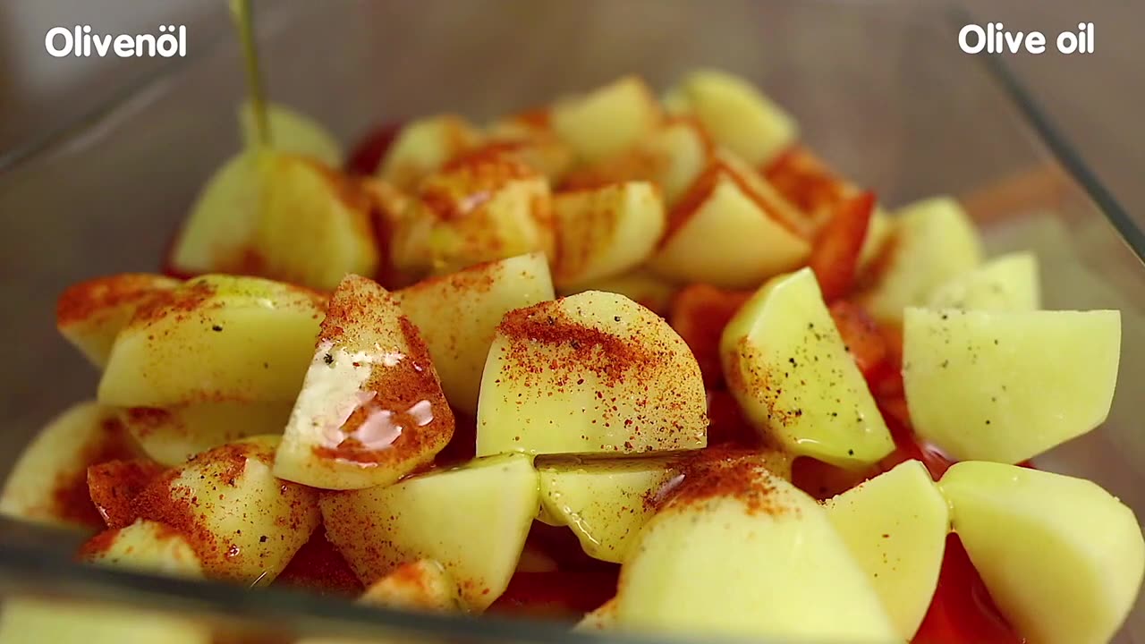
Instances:
[[[411,121],[397,133],[378,168],[378,176],[401,189],[413,189],[424,176],[480,142],[480,131],[456,115]]]

